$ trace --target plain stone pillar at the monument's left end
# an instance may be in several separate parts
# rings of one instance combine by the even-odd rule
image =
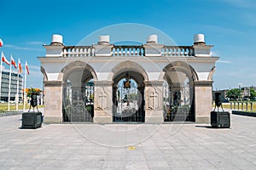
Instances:
[[[44,82],[44,122],[62,122],[62,81]]]

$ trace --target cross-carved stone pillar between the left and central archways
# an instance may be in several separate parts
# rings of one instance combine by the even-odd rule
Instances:
[[[112,81],[96,81],[94,97],[94,117],[93,122],[111,123],[112,114]]]

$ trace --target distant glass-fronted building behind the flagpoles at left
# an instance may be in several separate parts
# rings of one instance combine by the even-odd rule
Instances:
[[[10,85],[10,100],[15,101],[15,96],[17,94],[17,77],[18,73],[11,73],[11,85]],[[19,101],[22,100],[22,85],[23,79],[22,76],[19,75]],[[1,84],[1,97],[0,100],[8,101],[9,95],[9,71],[2,71],[2,84]]]

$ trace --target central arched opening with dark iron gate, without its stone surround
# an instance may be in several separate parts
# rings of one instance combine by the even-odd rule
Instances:
[[[113,78],[113,122],[144,122],[144,77],[121,71]]]

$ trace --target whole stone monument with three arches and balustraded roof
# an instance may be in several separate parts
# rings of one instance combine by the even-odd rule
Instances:
[[[53,35],[38,57],[44,74],[44,122],[210,122],[218,57],[204,35],[191,46],[66,46]]]

